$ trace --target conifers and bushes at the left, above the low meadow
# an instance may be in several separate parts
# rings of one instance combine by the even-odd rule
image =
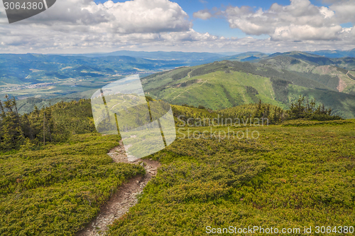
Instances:
[[[13,149],[39,148],[65,141],[71,134],[94,132],[89,100],[59,102],[29,114],[19,114],[16,99],[0,101],[0,153]]]

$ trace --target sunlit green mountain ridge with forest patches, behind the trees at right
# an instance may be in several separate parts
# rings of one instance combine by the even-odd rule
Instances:
[[[144,77],[143,87],[156,99],[172,104],[224,109],[258,100],[286,109],[298,97],[315,99],[335,114],[355,117],[353,72],[313,65],[290,57],[263,63],[222,61],[178,68]]]

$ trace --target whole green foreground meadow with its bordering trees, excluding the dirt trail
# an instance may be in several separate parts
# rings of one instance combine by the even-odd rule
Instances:
[[[355,227],[355,120],[299,101],[288,111],[261,103],[214,111],[174,105],[177,139],[146,157],[162,166],[107,235],[207,235],[207,227],[230,226],[306,226],[316,235],[316,226]],[[0,235],[75,235],[121,183],[145,174],[142,166],[113,163],[107,152],[120,137],[95,132],[89,100],[26,115],[16,114],[13,100],[3,108]],[[219,116],[241,123],[195,123]],[[273,125],[254,126],[249,117]],[[183,125],[190,118],[195,125]]]

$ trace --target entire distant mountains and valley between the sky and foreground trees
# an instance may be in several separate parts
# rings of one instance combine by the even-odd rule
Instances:
[[[351,55],[351,51],[337,53]],[[355,58],[297,51],[271,55],[136,51],[0,54],[0,96],[21,99],[18,105],[23,113],[31,111],[34,104],[41,107],[89,98],[107,83],[139,73],[149,95],[172,104],[223,109],[260,99],[287,108],[299,95],[305,95],[333,107],[343,117],[355,117],[354,70]]]

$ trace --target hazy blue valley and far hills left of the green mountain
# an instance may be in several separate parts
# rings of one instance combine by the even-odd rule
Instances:
[[[126,75],[148,75],[182,65],[200,65],[221,56],[129,51],[104,55],[0,54],[0,97],[2,100],[7,94],[20,100],[28,97],[79,100],[91,97],[92,94],[85,93],[88,90],[98,89]]]

